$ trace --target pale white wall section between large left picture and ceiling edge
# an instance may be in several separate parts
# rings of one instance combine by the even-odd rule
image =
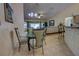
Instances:
[[[14,25],[19,28],[20,34],[24,33],[24,12],[23,12],[23,4],[22,3],[13,3],[11,4],[13,8],[13,16],[14,16]]]

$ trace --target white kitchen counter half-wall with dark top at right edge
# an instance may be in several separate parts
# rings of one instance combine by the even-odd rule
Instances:
[[[65,28],[65,42],[74,55],[79,56],[79,27]]]

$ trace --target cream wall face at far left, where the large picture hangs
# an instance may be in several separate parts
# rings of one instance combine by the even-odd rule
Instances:
[[[0,4],[0,55],[12,55],[12,44],[10,31],[13,31],[14,25],[5,22],[4,5]]]

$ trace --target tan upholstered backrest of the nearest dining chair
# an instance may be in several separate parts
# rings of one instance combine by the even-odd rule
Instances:
[[[36,30],[34,31],[34,34],[36,36],[36,47],[42,46],[44,40],[44,30]]]

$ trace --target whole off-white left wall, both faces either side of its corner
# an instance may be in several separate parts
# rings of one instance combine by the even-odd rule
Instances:
[[[14,31],[14,27],[18,25],[20,34],[23,33],[23,4],[10,4],[13,8],[13,21],[14,24],[5,21],[4,4],[0,3],[0,55],[13,55],[13,47],[17,44],[17,37]],[[13,31],[13,38],[10,36],[10,32]],[[14,40],[14,46],[12,45]]]

